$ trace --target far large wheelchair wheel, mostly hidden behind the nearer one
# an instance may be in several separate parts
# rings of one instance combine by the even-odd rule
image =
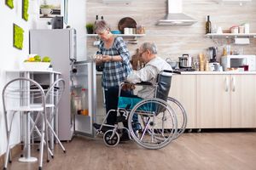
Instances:
[[[177,139],[187,127],[187,113],[183,105],[181,105],[181,103],[177,101],[177,99],[168,97],[167,103],[172,107],[173,111],[177,116],[177,136],[175,138]]]

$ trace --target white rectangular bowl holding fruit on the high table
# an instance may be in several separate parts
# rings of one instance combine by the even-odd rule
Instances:
[[[23,62],[22,69],[26,71],[47,71],[49,62]]]

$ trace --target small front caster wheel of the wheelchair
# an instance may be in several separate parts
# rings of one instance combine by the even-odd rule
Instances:
[[[119,139],[119,133],[113,132],[113,130],[108,130],[103,136],[104,143],[109,147],[114,147],[119,144]]]

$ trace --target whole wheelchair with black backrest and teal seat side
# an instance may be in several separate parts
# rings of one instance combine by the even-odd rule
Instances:
[[[94,124],[96,134],[103,134],[103,141],[107,146],[119,144],[120,136],[124,131],[129,139],[146,149],[160,149],[177,139],[187,125],[187,114],[183,105],[168,97],[171,88],[172,73],[178,71],[160,71],[155,84],[141,82],[132,84],[142,88],[154,89],[154,98],[141,99],[121,96],[121,89],[127,85],[119,85],[119,103],[117,110],[108,111],[102,124]],[[130,84],[131,85],[131,84]],[[108,115],[117,112],[117,121],[114,125],[106,124]],[[127,122],[128,127],[121,122]]]

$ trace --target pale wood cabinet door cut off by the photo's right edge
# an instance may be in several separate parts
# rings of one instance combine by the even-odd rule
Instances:
[[[231,75],[231,127],[256,127],[256,75]]]

